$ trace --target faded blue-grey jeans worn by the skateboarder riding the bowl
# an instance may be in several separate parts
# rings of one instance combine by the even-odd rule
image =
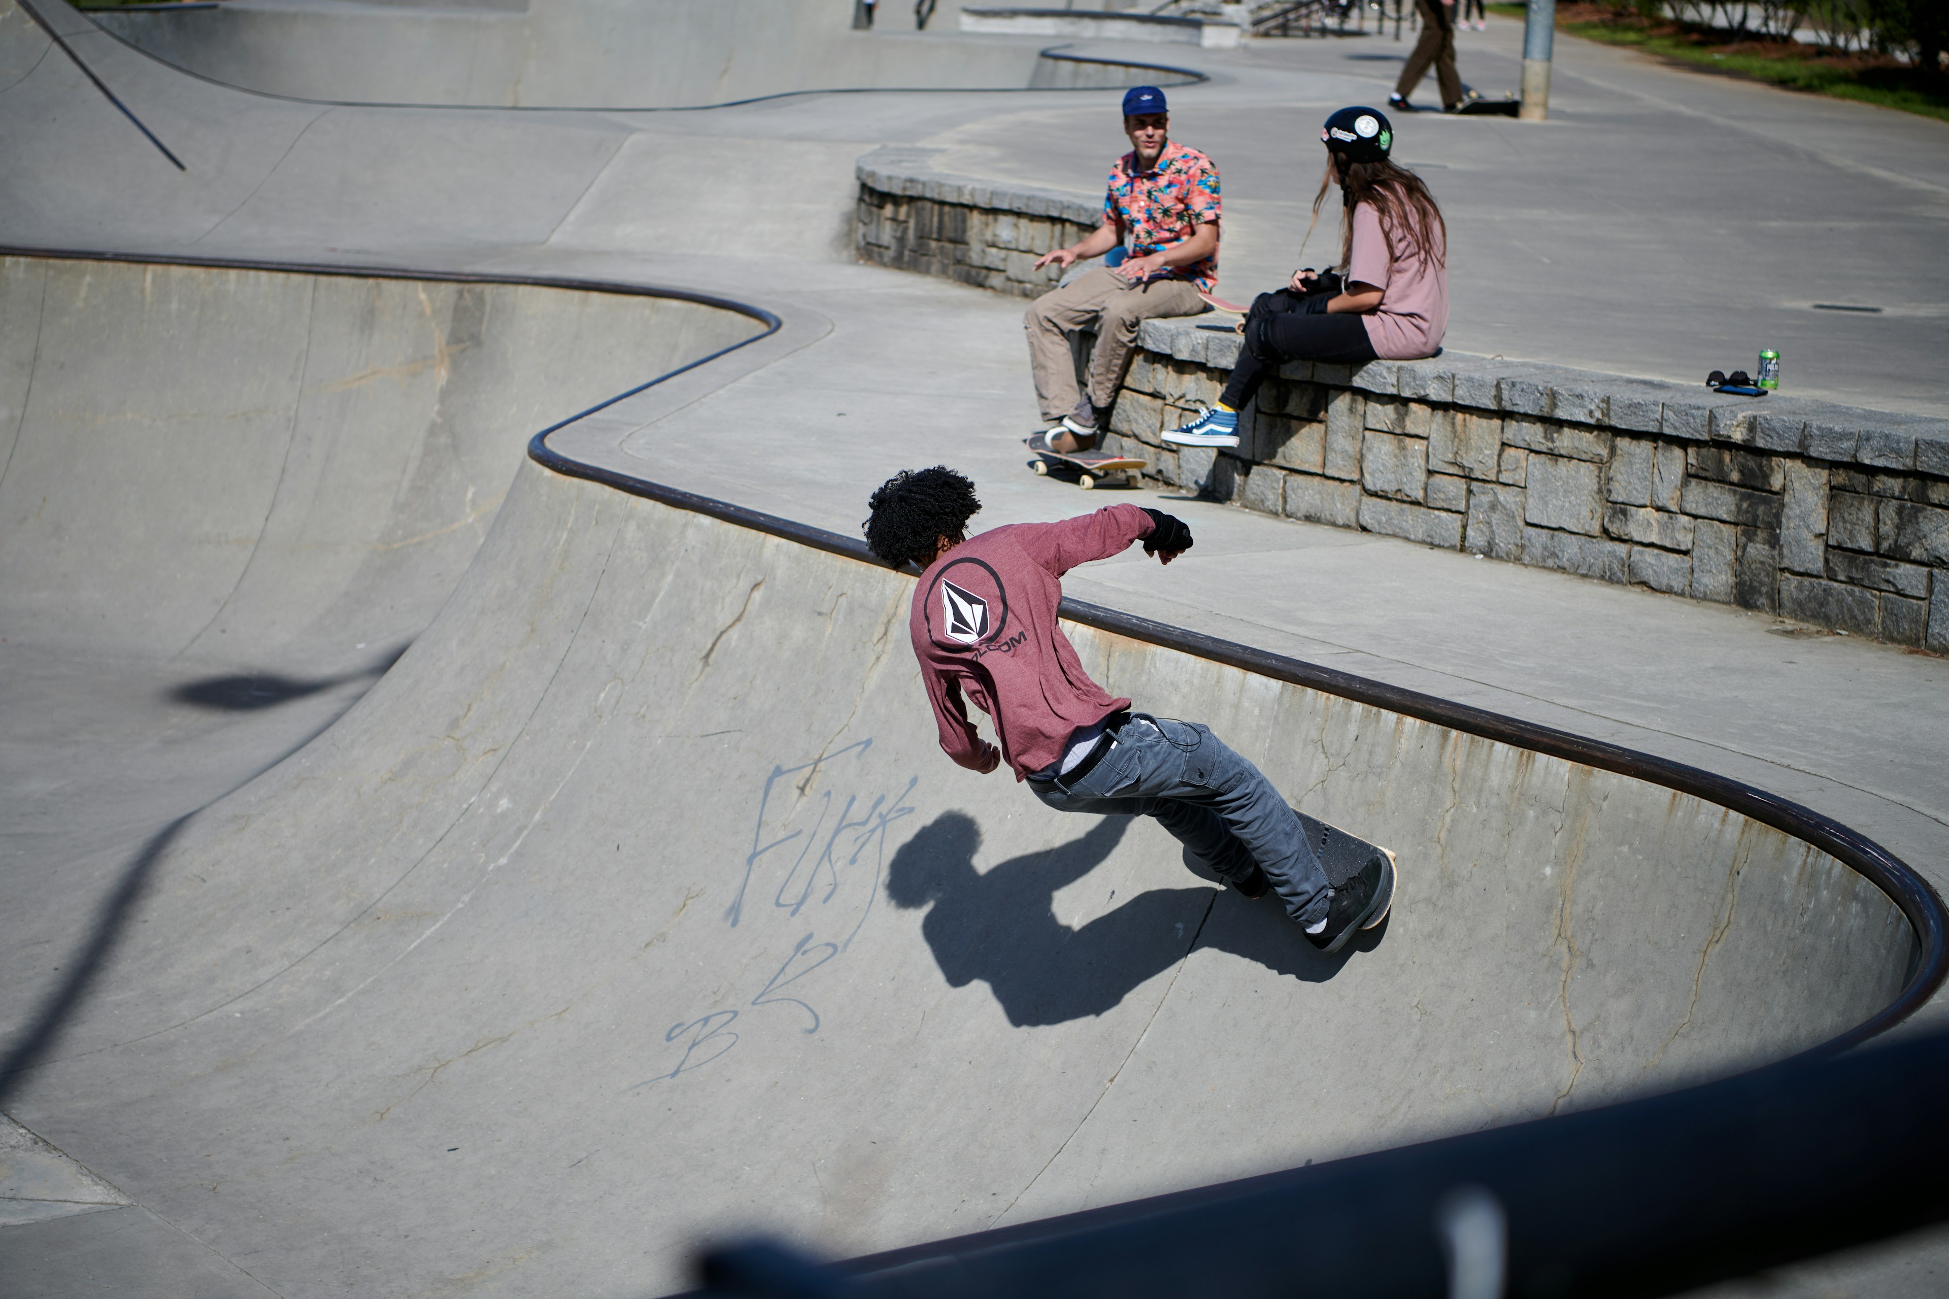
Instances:
[[[1191,855],[1228,880],[1259,863],[1286,913],[1312,925],[1327,913],[1327,876],[1300,818],[1255,765],[1210,726],[1136,713],[1103,761],[1062,789],[1029,781],[1058,812],[1156,816]]]

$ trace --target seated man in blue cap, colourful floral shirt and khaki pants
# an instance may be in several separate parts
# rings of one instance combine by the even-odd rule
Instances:
[[[1064,454],[1093,448],[1142,321],[1203,312],[1199,294],[1218,280],[1218,167],[1199,150],[1171,144],[1169,127],[1156,86],[1138,86],[1123,97],[1130,152],[1109,171],[1103,224],[1035,263],[1068,269],[1115,247],[1127,253],[1117,267],[1086,271],[1049,290],[1021,317],[1035,399],[1049,427],[1031,446],[1047,440],[1049,450]],[[1091,323],[1097,343],[1089,354],[1089,390],[1078,393],[1068,333]]]

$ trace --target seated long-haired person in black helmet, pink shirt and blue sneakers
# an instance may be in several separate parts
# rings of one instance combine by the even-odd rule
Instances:
[[[1364,364],[1440,351],[1448,327],[1448,228],[1434,195],[1390,160],[1394,127],[1378,109],[1341,109],[1319,138],[1327,171],[1314,195],[1314,222],[1327,187],[1339,185],[1339,271],[1294,271],[1286,288],[1253,300],[1240,325],[1245,345],[1218,405],[1167,430],[1171,446],[1238,446],[1238,413],[1288,360]],[[1312,226],[1306,234],[1312,238]]]

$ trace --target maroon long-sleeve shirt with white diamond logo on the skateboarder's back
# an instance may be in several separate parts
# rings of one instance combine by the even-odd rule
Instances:
[[[1084,674],[1056,625],[1058,578],[1117,555],[1154,526],[1134,504],[1060,524],[1012,524],[963,541],[920,575],[908,625],[949,758],[978,771],[986,756],[963,695],[994,719],[1017,781],[1056,761],[1078,726],[1130,707]]]

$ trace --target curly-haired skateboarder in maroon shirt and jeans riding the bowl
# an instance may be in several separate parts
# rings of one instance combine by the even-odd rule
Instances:
[[[1132,713],[1089,680],[1056,625],[1062,575],[1132,541],[1171,563],[1191,549],[1183,520],[1113,504],[1060,524],[1010,524],[974,538],[974,483],[943,465],[906,469],[867,502],[867,547],[922,569],[908,629],[941,750],[982,775],[1004,761],[1060,812],[1154,816],[1193,857],[1247,898],[1279,894],[1323,952],[1378,925],[1394,863],[1376,855],[1327,884],[1298,814],[1208,726]],[[980,738],[967,701],[1000,744]]]

